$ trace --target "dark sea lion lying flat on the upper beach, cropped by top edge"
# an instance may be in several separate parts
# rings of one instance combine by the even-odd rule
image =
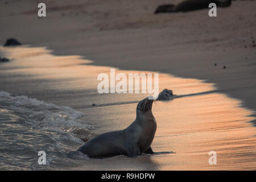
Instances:
[[[178,3],[177,5],[160,5],[155,10],[155,14],[208,9],[210,3],[215,3],[217,7],[228,7],[231,5],[231,0],[186,0]]]

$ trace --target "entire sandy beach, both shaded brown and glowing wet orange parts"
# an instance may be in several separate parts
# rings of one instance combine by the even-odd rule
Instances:
[[[31,142],[41,143],[28,149],[30,155],[18,156],[18,149],[0,139],[1,159],[14,156],[2,160],[1,169],[256,169],[255,1],[234,1],[217,9],[214,18],[207,10],[155,15],[156,7],[168,1],[49,0],[46,18],[37,16],[39,1],[5,2],[0,2],[0,43],[16,38],[25,45],[0,48],[0,55],[10,59],[0,64],[0,91],[14,94],[0,94],[2,118],[4,113],[31,122],[36,118],[18,125],[29,129],[20,134],[20,142],[33,138],[36,130],[40,136]],[[155,102],[152,109],[158,125],[152,148],[170,154],[108,159],[65,155],[84,143],[81,139],[134,121],[137,102],[146,94],[97,93],[97,75],[110,68],[126,75],[160,73],[159,90],[184,96]],[[36,98],[53,119],[56,113],[47,104],[54,104],[58,115],[68,112],[66,120],[61,115],[61,125],[40,123],[40,107],[31,109],[38,102],[26,98],[22,108],[29,112],[15,113],[8,103],[18,107],[24,101],[15,96]],[[28,113],[34,118],[27,118]],[[5,126],[18,132],[11,121]],[[6,136],[2,132],[1,138]],[[36,164],[39,150],[49,154],[46,166]],[[217,165],[209,165],[209,151],[217,152]]]

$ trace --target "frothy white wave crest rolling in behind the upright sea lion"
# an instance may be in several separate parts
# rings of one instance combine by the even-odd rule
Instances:
[[[81,121],[84,113],[68,106],[57,106],[26,96],[13,96],[7,92],[0,92],[0,107],[14,111],[24,119],[28,126],[35,130],[47,132],[72,133],[63,136],[63,140],[81,143],[84,138],[90,138],[93,125]]]

